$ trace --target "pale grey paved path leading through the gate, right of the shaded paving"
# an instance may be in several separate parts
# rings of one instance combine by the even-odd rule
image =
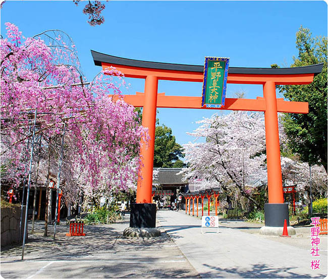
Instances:
[[[160,210],[157,219],[203,278],[324,278],[327,237],[320,236],[320,269],[310,263],[310,227],[297,228],[291,238],[262,236],[260,224],[222,220],[201,234],[200,218],[184,211]]]

